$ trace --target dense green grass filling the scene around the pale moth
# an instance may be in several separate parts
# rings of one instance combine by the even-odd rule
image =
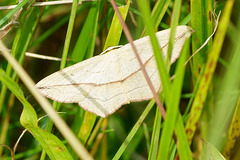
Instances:
[[[108,46],[128,43],[110,1],[77,5],[75,0],[72,5],[46,7],[29,7],[27,2],[14,10],[0,11],[0,27],[24,7],[17,18],[19,23],[3,42],[34,82],[98,55]],[[9,3],[3,0],[0,6]],[[123,0],[117,4],[126,5]],[[13,150],[24,129],[28,133],[16,148],[16,159],[223,159],[222,155],[239,159],[234,152],[239,150],[240,136],[239,6],[234,0],[139,0],[119,8],[134,39],[151,37],[161,74],[163,91],[159,98],[166,109],[165,119],[154,99],[124,105],[105,119],[77,104],[50,101],[50,105],[4,52],[0,56],[0,159],[11,159],[4,146]],[[214,11],[221,11],[216,34],[184,65],[211,35]],[[157,56],[161,51],[154,33],[171,27],[174,37],[179,24],[191,26],[195,32],[170,67],[168,60]],[[171,38],[168,54],[173,43]],[[62,61],[25,57],[26,51],[61,57]],[[173,74],[176,78],[171,81]]]

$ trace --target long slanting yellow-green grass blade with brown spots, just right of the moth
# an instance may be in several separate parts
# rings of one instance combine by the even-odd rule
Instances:
[[[203,76],[200,80],[198,91],[196,93],[195,99],[193,101],[192,109],[186,124],[186,132],[188,136],[189,143],[191,144],[193,135],[196,131],[196,124],[199,121],[201,110],[205,103],[210,82],[215,71],[219,54],[222,48],[223,40],[226,34],[227,25],[230,20],[231,9],[233,6],[233,0],[229,0],[226,3],[223,15],[219,22],[219,28],[216,32],[216,36],[213,42],[213,47],[211,52],[208,55],[207,64],[203,73]],[[214,144],[214,143],[213,143]]]

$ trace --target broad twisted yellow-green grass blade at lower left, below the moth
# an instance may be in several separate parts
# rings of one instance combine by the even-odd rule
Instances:
[[[20,122],[36,140],[41,144],[51,159],[72,159],[65,145],[53,134],[44,131],[38,127],[37,115],[32,106],[25,99],[22,90],[18,85],[0,69],[0,80],[12,91],[13,94],[23,104],[23,112]]]

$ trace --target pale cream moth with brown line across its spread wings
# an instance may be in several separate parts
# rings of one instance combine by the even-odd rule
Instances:
[[[188,26],[177,27],[171,64],[179,57],[192,31]],[[169,35],[170,29],[156,33],[163,57],[167,53]],[[155,90],[159,91],[161,82],[149,37],[134,41],[134,45]],[[101,117],[114,113],[123,104],[153,98],[130,44],[55,72],[36,87],[46,97],[58,102],[78,103]]]

